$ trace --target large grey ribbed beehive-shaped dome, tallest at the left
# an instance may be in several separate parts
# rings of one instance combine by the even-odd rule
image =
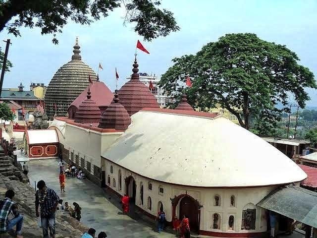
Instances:
[[[71,60],[61,66],[54,74],[45,93],[45,109],[50,119],[55,114],[64,117],[69,105],[84,91],[89,82],[89,75],[92,80],[97,80],[95,71],[81,60],[80,46],[76,38]]]

